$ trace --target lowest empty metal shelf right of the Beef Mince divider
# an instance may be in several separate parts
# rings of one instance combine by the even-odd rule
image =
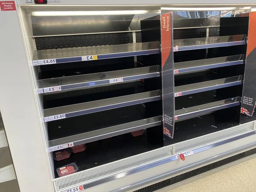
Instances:
[[[175,121],[190,119],[195,116],[200,116],[206,113],[211,113],[213,111],[240,105],[239,99],[240,97],[234,97],[217,102],[207,103],[204,105],[198,105],[191,108],[177,110],[175,111]]]

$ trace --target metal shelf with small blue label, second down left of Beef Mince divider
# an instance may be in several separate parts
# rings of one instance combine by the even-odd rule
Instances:
[[[160,76],[160,66],[93,73],[38,81],[38,93],[48,93]]]

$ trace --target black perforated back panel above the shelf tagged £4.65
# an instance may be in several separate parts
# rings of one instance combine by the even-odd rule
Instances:
[[[137,42],[141,42],[140,32],[136,32]],[[65,35],[35,38],[37,50],[61,49],[71,47],[92,47],[128,44],[133,42],[132,32],[104,33],[90,35]]]

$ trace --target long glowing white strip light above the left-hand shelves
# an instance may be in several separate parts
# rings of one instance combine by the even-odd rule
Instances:
[[[59,12],[32,12],[33,16],[82,16],[82,15],[139,15],[148,13],[146,10],[124,11],[59,11]]]

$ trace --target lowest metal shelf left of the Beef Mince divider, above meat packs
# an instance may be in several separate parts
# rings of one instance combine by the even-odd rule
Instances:
[[[134,122],[128,122],[121,125],[115,125],[108,128],[99,129],[96,131],[90,131],[87,133],[77,134],[70,137],[64,137],[61,139],[49,141],[49,151],[57,151],[70,146],[81,145],[84,143],[90,143],[97,140],[106,139],[131,131],[137,131],[161,125],[161,116],[151,117],[148,119],[142,119]]]

